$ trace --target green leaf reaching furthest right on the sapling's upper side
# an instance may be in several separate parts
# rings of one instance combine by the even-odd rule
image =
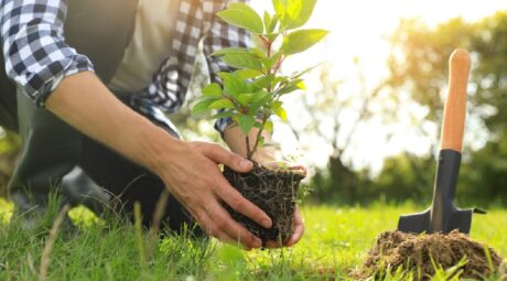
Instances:
[[[321,41],[328,32],[325,30],[298,30],[285,36],[281,51],[285,55],[301,53]]]

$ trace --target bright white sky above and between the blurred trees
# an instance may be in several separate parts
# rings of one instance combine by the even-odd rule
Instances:
[[[271,1],[252,0],[252,6],[259,10],[270,10]],[[298,58],[288,61],[284,72],[312,66],[316,62],[330,64],[332,79],[343,80],[343,89],[354,91],[357,83],[354,79],[354,57],[360,60],[365,73],[366,84],[376,85],[387,75],[386,58],[389,45],[386,36],[398,25],[400,19],[420,18],[430,26],[451,18],[462,17],[466,21],[476,21],[507,9],[505,0],[319,0],[306,24],[308,28],[330,30],[325,42],[298,55]],[[316,95],[317,83],[308,77],[308,91],[304,95]],[[289,119],[298,116],[301,107],[298,97],[290,97],[288,104]],[[423,130],[432,132],[432,138],[439,138],[439,127],[424,121],[425,110],[408,102],[400,108],[399,123],[386,128],[380,120],[374,120],[368,126],[359,128],[353,139],[353,145],[346,155],[355,167],[370,167],[374,172],[381,169],[386,156],[396,155],[402,151],[416,154],[428,153],[431,141],[421,139],[408,117],[419,118],[418,122]],[[407,118],[403,117],[403,112]],[[292,120],[299,121],[299,120]],[[346,126],[346,120],[344,120]],[[386,141],[386,131],[391,133]],[[330,143],[305,136],[305,143],[296,143],[289,128],[280,122],[276,123],[274,141],[283,143],[285,155],[294,155],[298,162],[308,166],[323,166],[331,152]],[[466,139],[470,139],[465,134]],[[310,147],[301,150],[301,147]]]

